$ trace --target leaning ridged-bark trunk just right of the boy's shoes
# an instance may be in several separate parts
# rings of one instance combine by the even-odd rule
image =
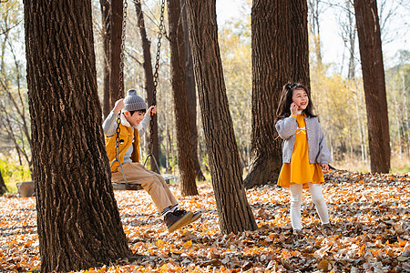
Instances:
[[[186,3],[220,231],[229,234],[254,230],[257,226],[241,183],[241,161],[223,79],[215,0],[187,0]]]

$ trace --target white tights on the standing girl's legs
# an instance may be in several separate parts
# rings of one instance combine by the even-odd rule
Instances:
[[[323,198],[322,185],[308,183],[309,190],[316,211],[321,218],[322,224],[329,223],[329,214],[327,212],[327,205]],[[302,184],[291,184],[291,221],[293,229],[302,229],[301,227],[301,206],[302,206]]]

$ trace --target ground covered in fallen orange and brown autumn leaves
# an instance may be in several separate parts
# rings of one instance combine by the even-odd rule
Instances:
[[[247,191],[256,231],[221,235],[210,184],[181,207],[201,210],[200,221],[169,234],[144,191],[116,191],[129,247],[137,261],[118,260],[82,272],[410,272],[409,174],[336,171],[325,177],[333,234],[323,232],[304,192],[302,238],[292,235],[289,191]],[[0,197],[0,271],[38,270],[34,197]]]

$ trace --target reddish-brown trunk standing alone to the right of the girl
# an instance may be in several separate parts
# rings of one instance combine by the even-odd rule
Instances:
[[[385,95],[382,41],[375,0],[354,0],[372,173],[390,169],[389,124]]]

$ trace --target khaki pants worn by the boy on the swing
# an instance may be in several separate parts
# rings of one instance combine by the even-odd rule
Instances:
[[[150,171],[137,162],[128,162],[123,164],[122,168],[127,177],[127,182],[141,185],[149,193],[159,212],[162,212],[166,207],[173,207],[178,204],[177,199],[175,199],[161,175]],[[115,183],[125,183],[120,167],[112,173],[111,180]]]

